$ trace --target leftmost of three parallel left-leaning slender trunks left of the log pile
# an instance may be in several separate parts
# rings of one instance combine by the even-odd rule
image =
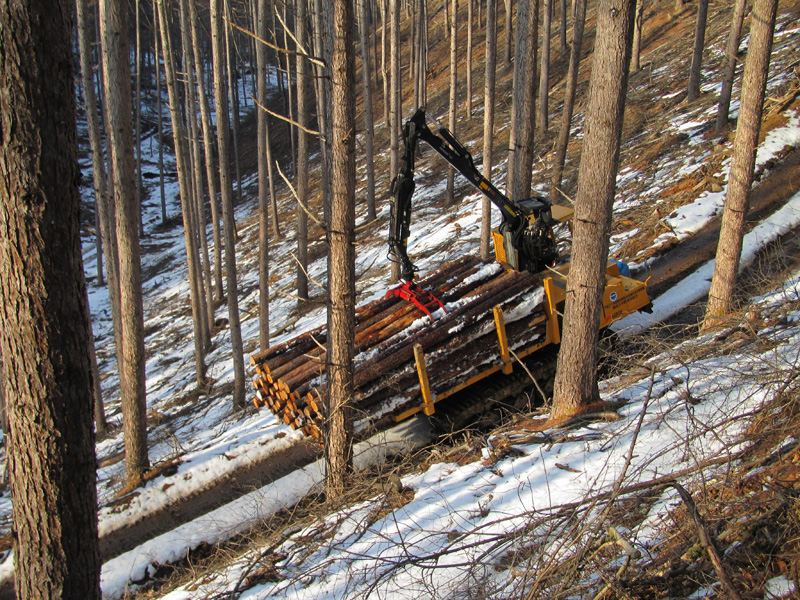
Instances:
[[[197,247],[193,233],[191,217],[192,186],[191,168],[189,165],[189,152],[186,148],[186,134],[183,128],[180,111],[180,93],[178,80],[175,73],[175,53],[172,49],[172,40],[169,35],[169,18],[167,16],[166,0],[158,0],[159,23],[161,25],[161,47],[164,50],[164,70],[167,78],[167,94],[169,96],[169,111],[172,118],[172,137],[175,142],[175,166],[178,171],[178,187],[181,198],[181,214],[183,215],[183,239],[186,246],[186,264],[189,270],[189,296],[192,305],[192,325],[194,334],[194,369],[195,381],[198,386],[206,383],[206,363],[203,324],[200,313],[201,289],[197,285]]]

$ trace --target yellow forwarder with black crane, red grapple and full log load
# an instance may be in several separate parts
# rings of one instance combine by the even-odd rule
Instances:
[[[368,424],[380,428],[382,424],[399,422],[423,412],[438,429],[453,431],[471,423],[494,422],[506,408],[529,408],[531,395],[528,391],[533,388],[538,390],[541,401],[547,400],[561,342],[560,315],[570,268],[569,263],[559,264],[553,228],[559,223],[569,224],[573,210],[553,205],[544,197],[520,202],[506,197],[476,169],[472,155],[450,131],[438,127],[434,133],[428,127],[424,109],[417,110],[407,121],[404,140],[404,164],[392,182],[389,233],[389,256],[390,260],[400,264],[401,284],[386,293],[387,300],[357,309],[356,344],[359,344],[359,339],[362,343],[370,339],[368,336],[372,334],[369,332],[374,330],[380,318],[383,319],[381,323],[394,322],[395,327],[392,329],[389,325],[383,330],[385,333],[391,329],[393,337],[381,338],[380,344],[367,348],[369,351],[365,354],[371,355],[369,364],[363,360],[359,363],[357,358],[355,408],[358,414],[366,415]],[[469,292],[472,304],[467,303],[471,308],[465,310],[462,300],[454,303],[452,313],[447,313],[444,302],[415,283],[417,269],[409,259],[407,241],[419,140],[428,143],[500,209],[502,222],[492,231],[495,258],[512,277],[513,285],[509,288],[516,286],[516,291],[506,291],[504,285],[493,285],[492,281],[478,287],[471,284],[472,287],[466,286],[473,290]],[[455,267],[467,258],[456,259],[451,265]],[[475,268],[480,266],[478,263]],[[449,273],[457,269],[447,269],[446,265],[439,269],[442,271]],[[428,279],[434,280],[435,275]],[[458,285],[459,282],[451,283],[451,295]],[[520,289],[525,292],[520,293]],[[394,332],[398,330],[396,323],[399,320],[396,311],[400,309],[396,305],[395,308],[385,306],[386,302],[392,302],[388,299],[393,297],[412,302],[433,324],[427,329],[401,329],[401,341],[393,342],[397,338]],[[536,300],[531,301],[531,298]],[[632,279],[625,263],[610,260],[602,303],[601,332],[598,332],[601,336],[602,330],[614,321],[637,310],[650,309],[647,283]],[[376,316],[379,311],[384,311],[381,315],[388,313],[389,316]],[[464,328],[460,329],[462,325]],[[455,352],[452,337],[459,334],[451,335],[450,332],[463,332],[468,325],[479,333],[464,338],[467,352]],[[443,329],[437,331],[437,327]],[[325,384],[324,378],[320,377],[323,367],[316,367],[317,379],[312,380],[308,375],[298,375],[307,373],[309,369],[302,364],[295,368],[298,358],[293,357],[305,352],[304,348],[313,348],[312,351],[319,355],[321,349],[316,336],[320,335],[324,335],[324,330],[308,332],[251,357],[257,371],[254,381],[256,406],[268,405],[292,428],[302,429],[318,441],[322,441],[324,423]],[[403,339],[404,335],[408,339]],[[467,358],[464,358],[465,354]],[[319,356],[314,360],[317,364],[324,363]],[[374,367],[377,362],[390,363],[393,370],[380,371],[378,376]],[[359,384],[359,381],[363,383]]]

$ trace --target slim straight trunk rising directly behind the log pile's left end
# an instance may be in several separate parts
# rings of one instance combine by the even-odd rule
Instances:
[[[256,35],[267,39],[267,1],[256,0]],[[256,98],[261,106],[267,105],[267,47],[257,42],[256,46]],[[269,348],[269,198],[267,180],[269,136],[267,113],[258,110],[258,339],[262,350]]]

